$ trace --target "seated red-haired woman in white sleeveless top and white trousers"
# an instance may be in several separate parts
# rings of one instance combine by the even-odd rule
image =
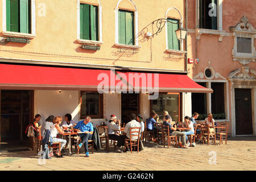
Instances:
[[[61,121],[62,121],[62,118],[60,116],[55,117],[53,119],[53,125],[51,126],[51,129],[50,129],[52,142],[61,142],[60,150],[62,150],[62,148],[67,143],[67,141],[64,140],[64,139],[56,138],[57,134],[63,135],[65,133],[63,130],[60,129],[59,125],[60,125]],[[56,151],[56,155],[60,156],[60,151],[59,150]]]

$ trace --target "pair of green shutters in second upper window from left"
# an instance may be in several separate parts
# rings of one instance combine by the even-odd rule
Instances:
[[[98,40],[98,7],[80,4],[80,39]]]

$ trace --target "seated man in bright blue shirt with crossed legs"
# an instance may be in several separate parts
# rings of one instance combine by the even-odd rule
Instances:
[[[74,127],[74,131],[76,132],[83,132],[80,134],[82,142],[78,145],[79,148],[82,147],[82,144],[84,144],[85,148],[85,157],[89,157],[89,151],[88,151],[88,140],[92,139],[93,135],[93,125],[90,122],[90,117],[86,117],[84,121],[80,121],[77,123],[77,125]]]

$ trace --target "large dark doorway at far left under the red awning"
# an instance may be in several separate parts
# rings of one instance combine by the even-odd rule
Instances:
[[[24,144],[24,133],[32,120],[32,90],[1,90],[1,143]]]

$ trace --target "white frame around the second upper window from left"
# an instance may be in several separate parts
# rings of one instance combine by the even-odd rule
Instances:
[[[77,42],[88,44],[102,44],[102,6],[101,0],[98,0],[98,41],[80,39],[80,0],[77,0]]]

